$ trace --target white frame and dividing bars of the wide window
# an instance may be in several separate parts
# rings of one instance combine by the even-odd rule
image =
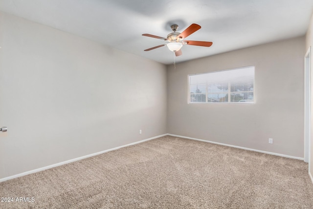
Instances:
[[[205,94],[205,102],[191,102],[190,101],[190,97],[191,97],[191,94],[190,94],[190,76],[192,75],[199,75],[199,74],[208,74],[208,73],[213,73],[213,72],[222,72],[222,71],[228,71],[228,70],[238,70],[238,69],[244,69],[244,68],[251,68],[253,67],[254,68],[254,79],[253,79],[253,91],[244,91],[244,92],[236,92],[236,93],[251,93],[253,92],[253,101],[247,101],[247,102],[231,102],[231,96],[228,96],[228,101],[227,102],[208,102],[208,83],[199,83],[197,85],[205,85],[205,93],[193,93],[193,94]],[[211,72],[203,72],[203,73],[195,73],[195,74],[188,74],[187,76],[187,92],[188,92],[188,95],[187,95],[187,100],[188,100],[188,104],[255,104],[255,66],[252,65],[252,66],[245,66],[245,67],[240,67],[240,68],[233,68],[233,69],[227,69],[227,70],[217,70],[217,71],[211,71]],[[228,83],[228,91],[227,92],[214,92],[214,94],[227,94],[228,95],[231,95],[231,88],[230,88],[230,83]]]

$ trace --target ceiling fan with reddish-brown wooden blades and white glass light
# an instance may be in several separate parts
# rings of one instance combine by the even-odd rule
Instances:
[[[162,44],[159,46],[155,46],[152,48],[147,48],[144,51],[150,51],[152,49],[155,48],[159,48],[162,46],[167,46],[171,51],[175,52],[176,56],[180,56],[182,54],[181,52],[181,47],[183,45],[194,45],[194,46],[212,46],[212,42],[202,42],[202,41],[189,41],[189,40],[184,40],[187,36],[193,34],[194,32],[196,32],[197,30],[199,30],[201,28],[201,26],[199,24],[191,24],[189,27],[187,27],[184,31],[182,31],[181,33],[176,32],[178,29],[178,25],[177,24],[173,24],[171,25],[171,28],[173,30],[172,33],[167,35],[167,38],[163,38],[160,36],[155,36],[155,35],[151,35],[151,34],[142,34],[143,36],[148,36],[151,38],[156,38],[156,39],[162,39],[164,41],[168,41],[169,43],[167,44]]]

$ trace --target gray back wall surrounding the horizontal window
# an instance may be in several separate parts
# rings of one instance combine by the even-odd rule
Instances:
[[[304,48],[299,37],[168,66],[168,133],[303,158]],[[187,104],[188,74],[251,65],[255,104]]]

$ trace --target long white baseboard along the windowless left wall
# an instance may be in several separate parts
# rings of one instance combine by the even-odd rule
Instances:
[[[37,168],[37,169],[34,169],[34,170],[26,171],[26,172],[23,172],[23,173],[20,173],[20,174],[16,174],[16,175],[13,175],[13,176],[2,178],[2,179],[0,179],[0,182],[4,182],[4,181],[10,180],[10,179],[15,179],[15,178],[18,178],[18,177],[21,177],[21,176],[26,176],[28,174],[36,173],[36,172],[43,171],[43,170],[46,170],[46,169],[49,169],[49,168],[53,168],[53,167],[57,167],[57,166],[60,166],[60,165],[64,165],[64,164],[67,164],[67,163],[72,163],[72,162],[75,162],[75,161],[83,160],[85,158],[89,158],[89,157],[92,157],[92,156],[100,155],[100,154],[103,154],[103,153],[106,153],[106,152],[110,152],[110,151],[113,151],[113,150],[116,150],[116,149],[120,149],[120,148],[131,146],[131,145],[134,145],[134,144],[142,143],[144,141],[156,139],[156,138],[159,138],[159,137],[164,137],[164,136],[167,136],[167,135],[168,134],[163,134],[163,135],[159,135],[159,136],[152,137],[152,138],[149,138],[149,139],[143,139],[143,140],[136,141],[136,142],[133,142],[133,143],[130,143],[130,144],[114,147],[112,149],[107,149],[107,150],[104,150],[104,151],[101,151],[101,152],[96,152],[96,153],[93,153],[93,154],[90,154],[90,155],[86,155],[86,156],[82,156],[82,157],[79,157],[79,158],[71,159],[71,160],[68,160],[68,161],[61,162],[61,163],[56,163],[56,164],[48,165],[48,166],[45,166],[45,167]]]

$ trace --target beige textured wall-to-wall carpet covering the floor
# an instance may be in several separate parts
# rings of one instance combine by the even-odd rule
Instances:
[[[0,208],[313,209],[307,167],[166,136],[2,182]]]

